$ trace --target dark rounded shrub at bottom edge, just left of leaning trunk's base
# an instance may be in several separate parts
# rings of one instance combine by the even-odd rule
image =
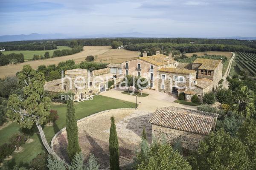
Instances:
[[[30,162],[30,166],[33,170],[47,170],[47,153],[38,154],[32,161]]]

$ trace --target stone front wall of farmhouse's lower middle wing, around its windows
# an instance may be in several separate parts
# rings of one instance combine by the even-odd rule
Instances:
[[[162,74],[166,75],[166,80],[162,80]],[[174,76],[183,76],[185,78],[184,82],[175,82]],[[189,80],[189,74],[180,74],[180,73],[170,73],[170,72],[163,72],[159,71],[159,82],[158,82],[158,91],[165,92],[172,94],[172,87],[176,85],[176,87],[179,88],[186,88],[189,89],[189,81],[191,81],[191,86],[194,87],[193,80],[196,79],[196,73],[191,74],[193,77],[191,80]],[[170,79],[167,79],[170,77]],[[164,84],[164,89],[162,89],[162,84]]]

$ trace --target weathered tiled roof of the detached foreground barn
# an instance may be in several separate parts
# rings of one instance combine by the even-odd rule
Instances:
[[[217,117],[216,113],[168,107],[157,109],[148,122],[153,125],[207,135],[215,127]]]

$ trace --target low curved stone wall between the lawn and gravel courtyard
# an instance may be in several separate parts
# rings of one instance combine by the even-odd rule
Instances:
[[[84,120],[86,120],[86,119],[89,119],[89,118],[91,118],[91,117],[93,117],[93,116],[97,116],[97,115],[106,113],[106,112],[110,112],[110,111],[126,111],[126,110],[134,110],[134,108],[119,108],[119,109],[110,109],[110,110],[106,110],[106,111],[101,111],[101,112],[98,112],[98,113],[94,113],[94,114],[92,114],[92,115],[90,115],[90,116],[84,117],[84,118],[78,120],[77,123],[82,122],[82,121],[84,121]],[[60,131],[58,131],[58,132],[53,136],[52,141],[51,141],[51,145],[50,145],[50,147],[52,148],[52,150],[53,150],[53,144],[54,144],[55,139],[56,139],[64,130],[66,130],[66,127],[62,128]],[[57,156],[58,159],[61,160],[61,158],[54,152],[54,150],[53,150],[53,153],[54,153],[54,155]]]

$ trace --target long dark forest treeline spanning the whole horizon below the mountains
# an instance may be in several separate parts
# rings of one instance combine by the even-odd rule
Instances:
[[[72,47],[74,43],[77,45],[108,45],[111,46],[113,41],[122,42],[123,45],[135,45],[141,43],[170,43],[170,44],[223,44],[223,45],[243,45],[256,49],[256,41],[235,40],[235,39],[206,39],[206,38],[88,38],[88,39],[68,39],[68,40],[32,40],[32,41],[15,41],[0,42],[0,49],[12,45],[61,45]],[[75,44],[76,45],[76,44]],[[32,46],[31,46],[32,47]],[[47,49],[49,50],[49,49]]]

